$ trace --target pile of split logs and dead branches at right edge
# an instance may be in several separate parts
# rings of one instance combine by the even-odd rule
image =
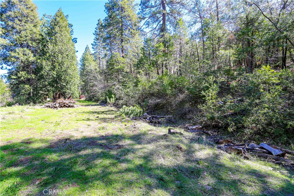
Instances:
[[[218,145],[217,148],[227,153],[236,153],[238,155],[244,155],[244,158],[250,159],[249,155],[266,159],[268,162],[280,164],[294,168],[294,152],[283,148],[276,147],[274,145],[267,145],[260,143],[256,145],[254,143],[235,144],[231,140],[213,139],[215,143],[224,144]]]

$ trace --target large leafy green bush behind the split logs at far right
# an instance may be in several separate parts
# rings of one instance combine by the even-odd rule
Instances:
[[[244,140],[277,138],[286,142],[293,134],[293,73],[264,66],[253,74],[243,74],[223,93],[219,82],[203,91],[205,103],[198,118],[204,123],[222,123]],[[287,136],[288,135],[288,136]]]

